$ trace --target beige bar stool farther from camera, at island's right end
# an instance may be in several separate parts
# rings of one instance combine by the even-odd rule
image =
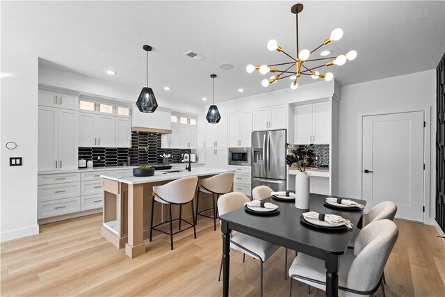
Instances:
[[[197,198],[196,198],[196,217],[195,222],[197,222],[197,216],[205,216],[206,218],[213,218],[213,230],[216,231],[216,207],[215,207],[215,194],[216,200],[218,200],[220,195],[229,193],[232,191],[232,186],[234,184],[235,172],[224,172],[219,175],[213,175],[213,177],[208,177],[207,179],[201,179],[200,184],[197,187]],[[198,211],[200,206],[200,192],[212,194],[213,207],[209,209],[203,209]],[[209,211],[213,209],[213,217],[206,216],[202,214],[204,211]]]

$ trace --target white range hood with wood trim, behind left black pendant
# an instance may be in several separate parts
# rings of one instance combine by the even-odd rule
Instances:
[[[171,111],[156,109],[154,113],[141,113],[136,104],[131,111],[131,131],[170,134],[172,133]]]

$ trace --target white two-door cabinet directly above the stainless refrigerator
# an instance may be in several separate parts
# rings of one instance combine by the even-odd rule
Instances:
[[[287,104],[253,110],[253,131],[287,128]]]

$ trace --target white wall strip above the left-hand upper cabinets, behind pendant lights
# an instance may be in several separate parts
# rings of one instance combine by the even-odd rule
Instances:
[[[118,80],[118,79],[117,79]],[[102,79],[86,77],[73,72],[67,72],[52,67],[39,66],[39,83],[66,90],[74,90],[83,95],[99,96],[108,99],[118,99],[127,104],[133,104],[138,99],[140,88],[123,86],[119,83],[111,83]],[[202,113],[202,105],[190,104],[186,102],[178,102],[164,95],[156,93],[156,101],[159,107],[171,109],[172,111],[180,111],[183,113],[200,114]]]

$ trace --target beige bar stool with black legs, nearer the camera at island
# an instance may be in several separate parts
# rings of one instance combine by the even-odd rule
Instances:
[[[196,239],[196,228],[195,228],[195,209],[193,207],[193,197],[195,196],[195,190],[197,185],[197,177],[182,177],[181,179],[176,179],[168,184],[164,184],[163,186],[154,186],[153,187],[153,197],[152,197],[152,218],[150,224],[150,242],[152,241],[153,230],[162,232],[164,234],[170,235],[170,249],[173,249],[173,234],[177,234],[179,232],[183,232],[185,230],[193,227],[193,233],[195,234]],[[156,229],[160,225],[169,222],[162,222],[156,225],[153,225],[153,212],[154,212],[154,202],[161,202],[163,204],[168,204],[168,212],[169,222],[170,222],[170,233],[165,232],[163,230]],[[192,207],[192,221],[193,223],[189,223],[188,221],[181,218],[182,214],[182,205],[191,202]],[[179,205],[179,218],[172,219],[172,204]],[[179,231],[173,233],[172,222],[175,220],[179,220]],[[181,221],[190,225],[186,229],[181,230]]]

